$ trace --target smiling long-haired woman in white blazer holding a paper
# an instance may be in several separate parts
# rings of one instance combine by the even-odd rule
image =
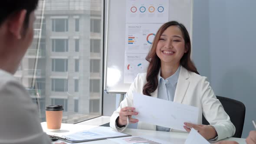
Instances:
[[[132,115],[139,115],[133,107],[132,93],[137,92],[198,107],[210,125],[202,125],[202,115],[200,115],[198,124],[184,123],[187,132],[194,128],[210,141],[233,136],[236,130],[230,117],[214,95],[206,77],[200,76],[197,72],[190,59],[190,52],[190,37],[184,25],[176,21],[162,25],[146,57],[149,62],[147,73],[138,74],[131,84],[125,99],[111,116],[111,128],[115,131],[123,131],[129,121],[129,123],[138,122],[139,129],[177,131],[131,118]],[[168,114],[168,111],[171,109],[161,112]]]

